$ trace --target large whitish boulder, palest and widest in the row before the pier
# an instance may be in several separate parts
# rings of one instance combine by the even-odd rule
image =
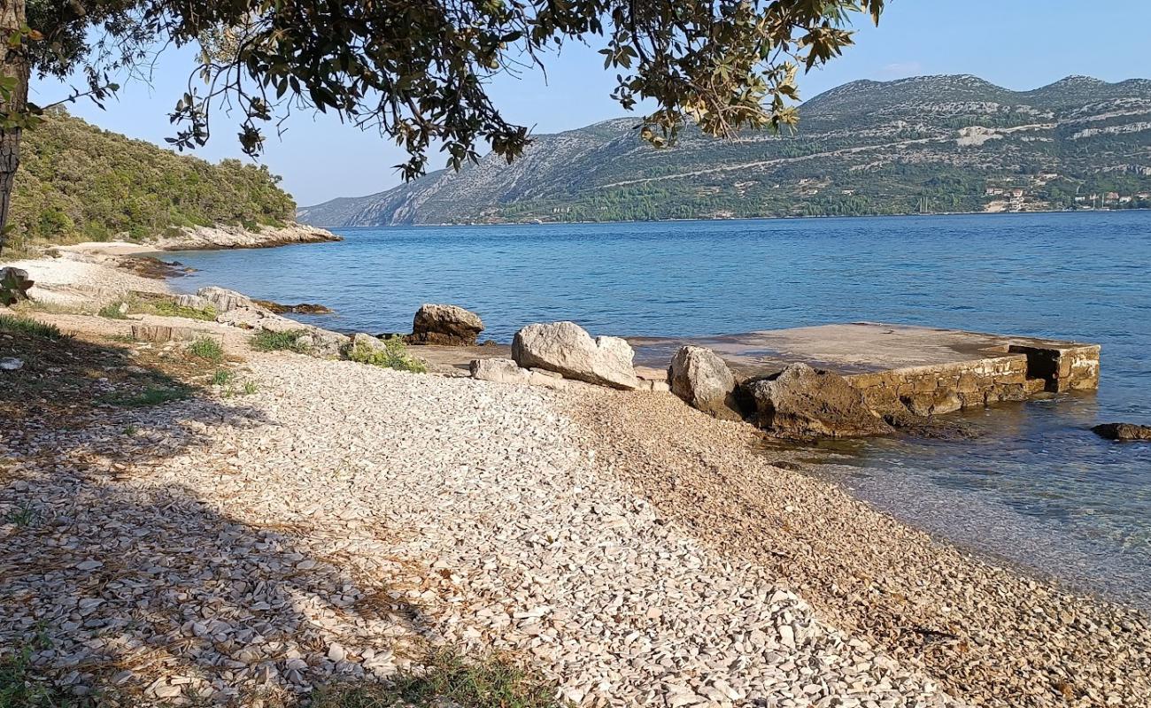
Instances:
[[[612,388],[639,388],[631,345],[619,337],[593,340],[576,322],[524,327],[511,342],[511,357],[524,368],[554,371],[567,379]]]

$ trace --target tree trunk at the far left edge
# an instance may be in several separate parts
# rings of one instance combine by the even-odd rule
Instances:
[[[20,168],[20,119],[28,111],[31,75],[24,43],[13,47],[7,39],[24,26],[24,3],[25,0],[0,0],[0,41],[5,43],[0,77],[16,79],[10,96],[0,97],[0,253],[8,241],[8,211]]]

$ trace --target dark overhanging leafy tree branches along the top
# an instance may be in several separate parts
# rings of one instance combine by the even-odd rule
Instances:
[[[10,1],[10,0],[6,0]],[[734,135],[795,122],[796,74],[851,44],[853,12],[878,21],[883,0],[29,0],[33,67],[82,70],[97,99],[109,71],[138,66],[157,43],[199,43],[200,66],[173,112],[171,143],[204,144],[213,112],[242,116],[258,153],[292,109],[335,112],[394,138],[425,172],[487,143],[509,160],[529,139],[488,96],[501,73],[544,66],[565,43],[602,46],[625,107],[650,99],[641,134],[656,145],[686,123]]]

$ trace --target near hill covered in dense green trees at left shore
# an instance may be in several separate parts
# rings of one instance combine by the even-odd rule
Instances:
[[[219,165],[62,112],[24,131],[13,241],[146,238],[170,227],[282,224],[296,205],[265,167]]]

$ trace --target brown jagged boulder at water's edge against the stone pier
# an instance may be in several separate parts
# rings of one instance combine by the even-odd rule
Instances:
[[[867,437],[892,432],[846,379],[807,364],[792,364],[744,388],[755,402],[755,424],[779,437]]]

